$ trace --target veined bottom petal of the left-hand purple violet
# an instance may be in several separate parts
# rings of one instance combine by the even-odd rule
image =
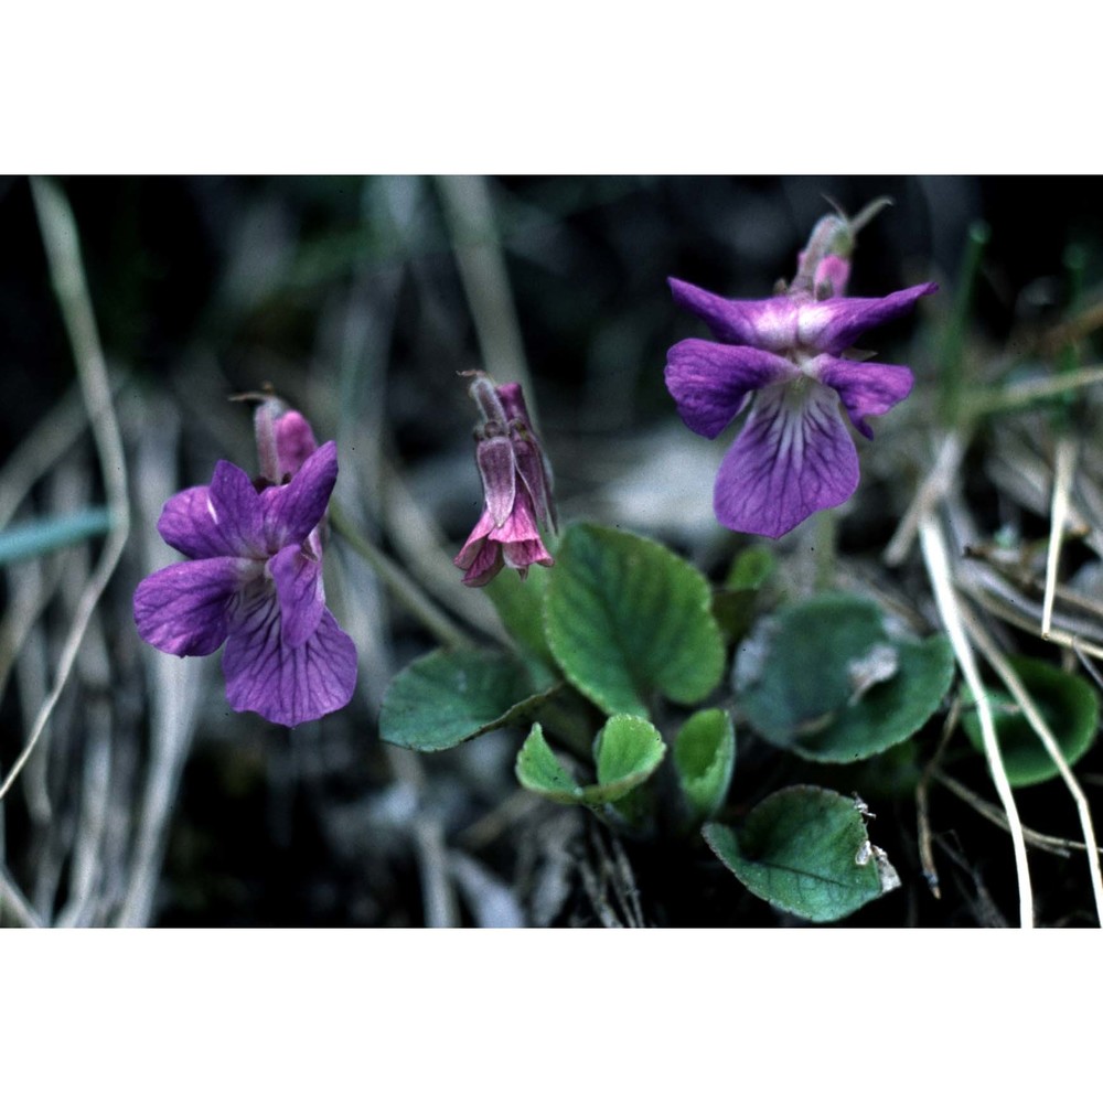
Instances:
[[[222,668],[232,708],[293,728],[349,704],[356,687],[356,647],[328,609],[314,633],[289,647],[281,640],[279,602],[268,590],[243,610]]]

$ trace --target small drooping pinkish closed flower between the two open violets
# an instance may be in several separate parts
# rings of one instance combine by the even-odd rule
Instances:
[[[482,413],[475,429],[475,462],[485,507],[453,563],[467,574],[464,586],[485,586],[504,564],[522,578],[534,564],[555,560],[540,539],[537,522],[556,528],[552,468],[533,431],[520,383],[495,386],[473,372],[469,388]]]

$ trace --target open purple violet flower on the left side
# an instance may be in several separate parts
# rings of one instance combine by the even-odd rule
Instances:
[[[158,532],[188,561],[142,580],[138,634],[172,655],[224,642],[226,698],[288,727],[349,704],[356,647],[325,608],[322,525],[338,478],[336,445],[277,399],[257,410],[256,485],[219,460],[210,486],[165,503]]]

